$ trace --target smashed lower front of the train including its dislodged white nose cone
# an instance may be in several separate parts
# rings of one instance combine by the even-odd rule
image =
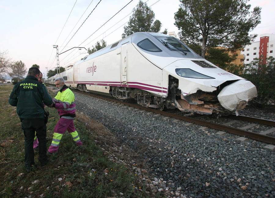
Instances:
[[[173,89],[174,88],[174,89]],[[217,89],[216,87],[212,87]],[[196,112],[198,114],[230,113],[244,109],[248,101],[257,97],[254,84],[248,80],[237,80],[217,91],[196,89],[183,93],[177,84],[171,84],[171,103],[181,111]]]

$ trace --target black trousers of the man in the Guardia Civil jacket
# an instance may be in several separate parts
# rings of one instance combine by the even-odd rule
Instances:
[[[35,164],[34,162],[34,150],[33,139],[36,136],[39,141],[39,162],[47,162],[47,148],[46,148],[46,125],[44,119],[21,119],[22,128],[25,136],[25,167],[30,168]]]

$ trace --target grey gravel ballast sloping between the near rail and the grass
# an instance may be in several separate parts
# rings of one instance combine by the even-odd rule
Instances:
[[[159,191],[198,198],[275,196],[274,152],[263,148],[266,143],[240,142],[236,135],[79,93],[75,103],[146,161]]]

